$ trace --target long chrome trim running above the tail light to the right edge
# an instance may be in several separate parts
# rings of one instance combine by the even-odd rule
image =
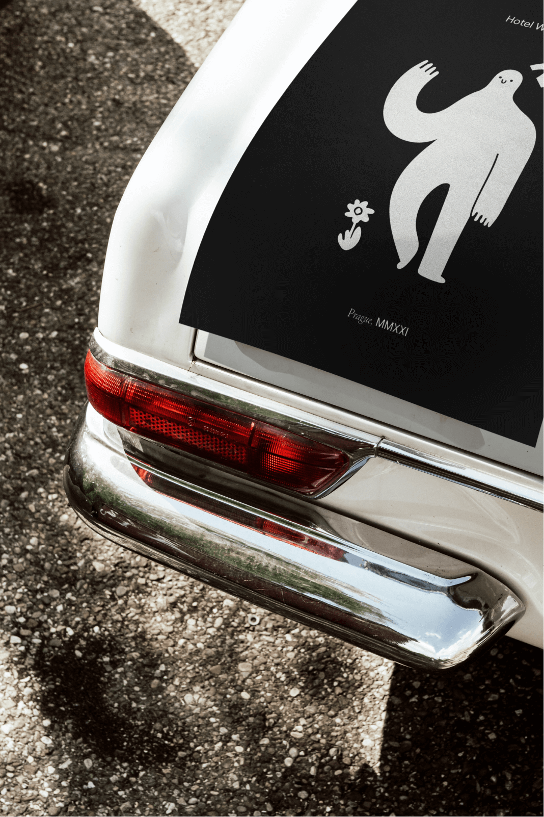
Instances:
[[[264,422],[272,422],[294,434],[304,435],[311,440],[343,449],[350,457],[350,468],[324,492],[314,494],[313,499],[327,496],[365,465],[370,457],[378,456],[438,476],[440,479],[489,493],[491,496],[505,499],[508,502],[515,502],[536,511],[544,511],[544,480],[525,471],[502,466],[498,462],[459,452],[457,449],[451,450],[452,459],[450,460],[409,448],[387,440],[385,437],[369,434],[321,417],[320,411],[326,414],[330,407],[322,406],[315,400],[312,400],[312,404],[316,407],[316,413],[305,412],[277,400],[229,386],[212,377],[191,373],[190,370],[185,372],[184,369],[164,364],[148,355],[117,346],[106,340],[98,329],[95,329],[91,337],[90,349],[101,363],[117,368],[126,374],[141,377],[159,386],[167,386],[182,394],[207,400],[224,408],[230,408],[232,411],[249,414]],[[157,368],[161,368],[162,371],[158,372]],[[211,364],[206,364],[206,370],[210,373],[215,370],[222,371]],[[349,416],[345,411],[343,415]],[[353,419],[360,421],[360,418],[355,415]],[[422,440],[422,444],[425,443],[428,443],[428,440]],[[437,447],[444,449],[444,445],[441,444]],[[456,458],[458,462],[455,462]]]

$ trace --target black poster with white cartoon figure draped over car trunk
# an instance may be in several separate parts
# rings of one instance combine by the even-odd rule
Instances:
[[[359,0],[232,173],[180,322],[534,446],[543,23]]]

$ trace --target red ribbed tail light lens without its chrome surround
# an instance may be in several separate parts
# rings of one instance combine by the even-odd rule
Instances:
[[[91,352],[85,380],[93,408],[117,426],[298,493],[324,490],[349,465],[343,451],[128,377]]]

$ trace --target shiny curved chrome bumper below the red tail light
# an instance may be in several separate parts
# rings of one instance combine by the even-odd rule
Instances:
[[[117,426],[87,404],[64,489],[93,529],[163,565],[427,669],[466,661],[524,613],[514,593],[465,562],[312,502],[259,502],[243,480],[219,493],[217,482],[145,462],[135,442],[127,453]]]

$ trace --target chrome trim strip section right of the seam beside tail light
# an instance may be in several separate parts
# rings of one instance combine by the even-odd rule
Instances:
[[[449,480],[459,485],[467,485],[476,491],[489,493],[493,497],[500,497],[515,502],[518,505],[533,508],[535,511],[544,511],[544,496],[542,495],[542,485],[538,484],[537,477],[533,480],[524,480],[522,484],[512,484],[506,482],[498,475],[483,475],[476,468],[462,466],[457,462],[448,462],[431,454],[409,449],[399,443],[391,443],[389,440],[380,440],[376,456],[398,462],[417,471],[424,471],[426,474],[439,476],[442,480]],[[529,482],[529,484],[528,484]],[[531,482],[533,484],[531,484]]]

